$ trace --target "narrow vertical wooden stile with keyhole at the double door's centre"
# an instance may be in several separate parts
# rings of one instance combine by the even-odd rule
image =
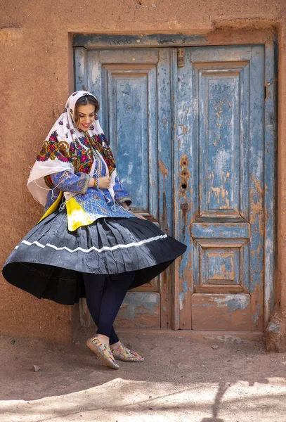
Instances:
[[[175,237],[187,245],[174,267],[174,328],[190,330],[192,327],[191,296],[193,293],[193,238],[190,224],[193,221],[193,183],[197,167],[197,148],[193,142],[193,122],[197,110],[193,104],[193,65],[190,49],[185,49],[185,65],[178,68],[174,57],[174,223]]]

